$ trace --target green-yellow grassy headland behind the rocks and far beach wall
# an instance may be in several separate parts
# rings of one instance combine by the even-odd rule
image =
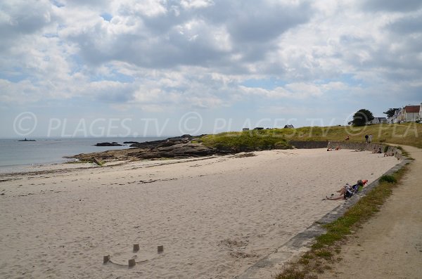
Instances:
[[[245,150],[248,148],[289,148],[288,141],[350,141],[364,142],[364,136],[372,134],[373,143],[393,143],[422,148],[422,124],[376,124],[362,127],[326,126],[298,129],[264,129],[225,132],[200,138],[204,145],[217,148]]]

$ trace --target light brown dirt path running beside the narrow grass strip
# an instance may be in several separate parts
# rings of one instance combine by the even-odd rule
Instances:
[[[422,278],[422,150],[375,218],[343,246],[343,261],[319,278]]]

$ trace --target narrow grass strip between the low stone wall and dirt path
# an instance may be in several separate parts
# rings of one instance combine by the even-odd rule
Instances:
[[[277,279],[316,279],[324,271],[341,261],[341,245],[364,221],[379,211],[385,200],[392,194],[393,188],[399,185],[407,167],[399,169],[392,175],[381,176],[378,186],[362,197],[343,216],[324,225],[326,233],[316,237],[311,249],[297,261],[288,264]],[[398,181],[398,182],[397,182]]]

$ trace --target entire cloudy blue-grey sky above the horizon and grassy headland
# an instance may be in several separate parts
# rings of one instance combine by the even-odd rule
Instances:
[[[0,137],[333,126],[422,102],[420,0],[0,1]]]

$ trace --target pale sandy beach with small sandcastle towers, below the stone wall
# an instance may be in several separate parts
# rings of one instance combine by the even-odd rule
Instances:
[[[325,195],[398,163],[255,154],[1,175],[0,278],[233,278],[343,202]],[[146,261],[127,268],[134,257]]]

